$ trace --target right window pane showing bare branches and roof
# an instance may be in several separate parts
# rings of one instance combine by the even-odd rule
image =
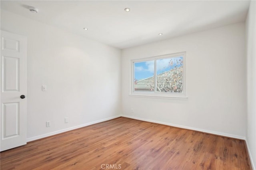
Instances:
[[[182,56],[156,60],[157,91],[182,93],[182,72]]]

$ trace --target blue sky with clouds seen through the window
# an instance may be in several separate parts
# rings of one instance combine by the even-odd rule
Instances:
[[[182,65],[183,57],[173,57],[156,60],[157,74],[173,69],[175,66]],[[137,80],[145,79],[154,75],[154,60],[134,63],[134,78]]]

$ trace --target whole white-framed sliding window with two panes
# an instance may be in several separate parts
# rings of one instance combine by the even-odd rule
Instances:
[[[132,60],[132,96],[186,97],[186,53]]]

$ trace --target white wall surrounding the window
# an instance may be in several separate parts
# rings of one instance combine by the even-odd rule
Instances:
[[[246,135],[244,23],[122,50],[122,114],[236,138]],[[188,100],[130,97],[131,59],[186,51]],[[131,113],[131,108],[134,113]]]

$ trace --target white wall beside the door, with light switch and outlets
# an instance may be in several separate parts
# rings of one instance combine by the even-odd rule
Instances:
[[[120,115],[120,49],[4,10],[1,30],[28,37],[29,139]]]

